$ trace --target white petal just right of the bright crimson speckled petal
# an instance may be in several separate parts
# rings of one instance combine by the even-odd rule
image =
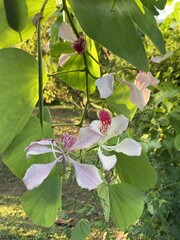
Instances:
[[[124,132],[128,127],[129,120],[124,115],[118,115],[111,120],[110,128],[107,131],[107,137],[111,138]]]

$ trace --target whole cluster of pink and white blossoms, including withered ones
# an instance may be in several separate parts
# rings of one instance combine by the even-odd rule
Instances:
[[[59,36],[66,41],[72,43],[72,48],[82,54],[86,48],[86,40],[84,35],[77,39],[71,27],[67,23],[63,23],[59,29]],[[59,65],[63,66],[72,54],[62,54],[59,58]],[[151,60],[160,62],[169,57],[171,53],[163,57],[154,57]],[[130,99],[139,109],[143,109],[150,98],[149,85],[156,86],[159,80],[152,76],[150,72],[145,73],[139,71],[134,83],[122,81],[130,88]],[[95,82],[100,97],[105,99],[113,94],[114,77],[107,74]],[[98,111],[99,120],[94,120],[88,127],[80,128],[78,136],[62,135],[60,140],[42,139],[32,142],[26,148],[26,158],[31,155],[40,155],[53,153],[54,161],[47,164],[33,164],[26,172],[23,181],[28,190],[38,187],[44,179],[48,177],[56,164],[71,164],[76,173],[76,181],[81,188],[92,190],[97,188],[102,182],[99,169],[92,164],[84,164],[75,161],[72,156],[73,152],[93,147],[98,148],[98,157],[104,170],[112,169],[116,162],[116,153],[124,153],[128,156],[140,156],[141,145],[131,138],[120,140],[120,135],[128,127],[128,119],[124,115],[111,117],[106,110]],[[116,144],[109,145],[109,140],[116,137]],[[114,154],[112,153],[114,152]],[[106,155],[105,155],[106,153]],[[108,154],[107,154],[108,153]]]

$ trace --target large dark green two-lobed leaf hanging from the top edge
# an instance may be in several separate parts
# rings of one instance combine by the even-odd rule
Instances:
[[[89,37],[138,69],[147,71],[148,61],[136,25],[165,53],[154,16],[145,7],[142,13],[134,0],[69,0],[69,3]]]

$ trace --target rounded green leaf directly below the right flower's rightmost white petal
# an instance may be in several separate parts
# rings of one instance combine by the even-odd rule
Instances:
[[[122,182],[130,183],[142,190],[155,186],[157,173],[145,153],[139,157],[130,157],[122,153],[115,154],[118,159],[116,170]]]

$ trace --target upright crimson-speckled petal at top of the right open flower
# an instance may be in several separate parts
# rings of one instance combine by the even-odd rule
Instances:
[[[98,112],[98,118],[101,121],[101,133],[106,134],[109,126],[111,125],[111,115],[105,110]]]

